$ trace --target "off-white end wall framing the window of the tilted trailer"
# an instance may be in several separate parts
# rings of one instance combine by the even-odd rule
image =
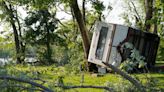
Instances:
[[[99,60],[99,59],[96,59],[95,54],[96,54],[97,44],[98,44],[98,40],[99,40],[100,30],[102,27],[108,27],[108,34],[106,37],[103,58],[102,58],[102,60]],[[108,58],[107,53],[108,53],[108,49],[109,49],[109,42],[111,41],[112,30],[113,30],[113,24],[108,24],[108,23],[104,23],[104,22],[96,23],[96,27],[94,29],[94,33],[92,36],[92,42],[91,42],[91,47],[90,47],[90,51],[89,51],[89,56],[88,56],[89,62],[98,64],[98,65],[102,65],[102,61],[106,62],[106,60]]]

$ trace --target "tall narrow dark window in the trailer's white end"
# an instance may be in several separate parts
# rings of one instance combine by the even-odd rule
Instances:
[[[103,58],[107,33],[108,33],[108,27],[102,27],[100,30],[99,40],[96,49],[96,58],[99,60],[102,60]]]

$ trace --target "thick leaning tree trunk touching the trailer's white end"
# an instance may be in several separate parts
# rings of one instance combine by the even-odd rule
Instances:
[[[77,0],[72,0],[71,9],[73,10],[74,16],[80,28],[81,36],[83,39],[83,48],[84,48],[85,58],[88,58],[89,49],[90,49],[90,39],[88,36],[88,30],[86,28],[86,25],[83,19],[83,15],[78,7]]]

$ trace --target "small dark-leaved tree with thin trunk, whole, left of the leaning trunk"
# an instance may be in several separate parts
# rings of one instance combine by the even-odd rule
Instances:
[[[57,23],[58,20],[55,18],[55,15],[51,14],[48,10],[29,12],[29,16],[25,19],[25,24],[28,26],[26,31],[27,42],[33,45],[41,45],[41,55],[43,56],[40,57],[45,57],[47,59],[45,61],[49,63],[52,63],[51,44],[53,44],[53,42],[63,42],[55,33]],[[46,48],[44,48],[44,46],[46,46]]]

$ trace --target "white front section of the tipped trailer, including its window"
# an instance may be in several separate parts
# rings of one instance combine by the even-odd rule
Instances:
[[[107,62],[118,66],[121,56],[116,47],[126,38],[128,27],[97,22],[94,30],[88,61],[98,65]]]

